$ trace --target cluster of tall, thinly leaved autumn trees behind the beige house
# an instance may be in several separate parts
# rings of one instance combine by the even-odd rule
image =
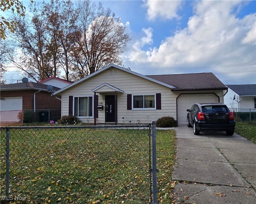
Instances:
[[[30,16],[15,15],[15,38],[22,50],[12,58],[28,78],[50,76],[76,81],[104,66],[121,65],[130,41],[110,8],[90,0],[51,0],[30,4]],[[46,12],[47,11],[47,12]]]

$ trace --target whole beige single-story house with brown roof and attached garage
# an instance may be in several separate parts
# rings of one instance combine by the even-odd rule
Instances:
[[[61,115],[84,123],[148,124],[172,116],[186,124],[194,102],[224,102],[228,88],[212,73],[145,76],[110,64],[56,92]]]

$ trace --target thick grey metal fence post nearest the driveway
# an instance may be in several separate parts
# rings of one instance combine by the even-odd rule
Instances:
[[[153,194],[153,203],[157,204],[157,179],[156,173],[158,169],[156,168],[156,121],[152,121],[152,194]]]

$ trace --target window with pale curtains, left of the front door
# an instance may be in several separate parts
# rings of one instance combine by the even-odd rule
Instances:
[[[74,97],[74,116],[92,117],[92,96]]]

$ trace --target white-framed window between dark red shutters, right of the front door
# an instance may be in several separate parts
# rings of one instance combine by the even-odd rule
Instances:
[[[133,95],[132,109],[152,109],[156,110],[156,95]]]

